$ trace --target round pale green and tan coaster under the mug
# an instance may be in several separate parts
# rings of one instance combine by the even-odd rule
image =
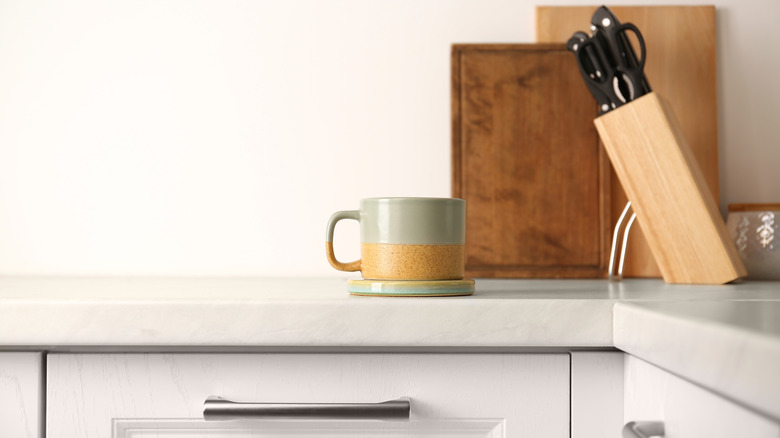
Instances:
[[[472,295],[474,280],[347,280],[347,291],[381,297],[453,297]]]

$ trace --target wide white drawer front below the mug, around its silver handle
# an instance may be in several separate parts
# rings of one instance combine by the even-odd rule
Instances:
[[[569,433],[567,354],[51,354],[47,367],[50,438]],[[207,422],[209,396],[412,408],[401,422]]]

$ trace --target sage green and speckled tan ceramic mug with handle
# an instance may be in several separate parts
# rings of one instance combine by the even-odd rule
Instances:
[[[342,263],[333,233],[342,219],[360,222],[360,260]],[[331,216],[325,251],[331,266],[370,280],[457,280],[465,265],[466,201],[455,198],[368,198],[360,210]]]

